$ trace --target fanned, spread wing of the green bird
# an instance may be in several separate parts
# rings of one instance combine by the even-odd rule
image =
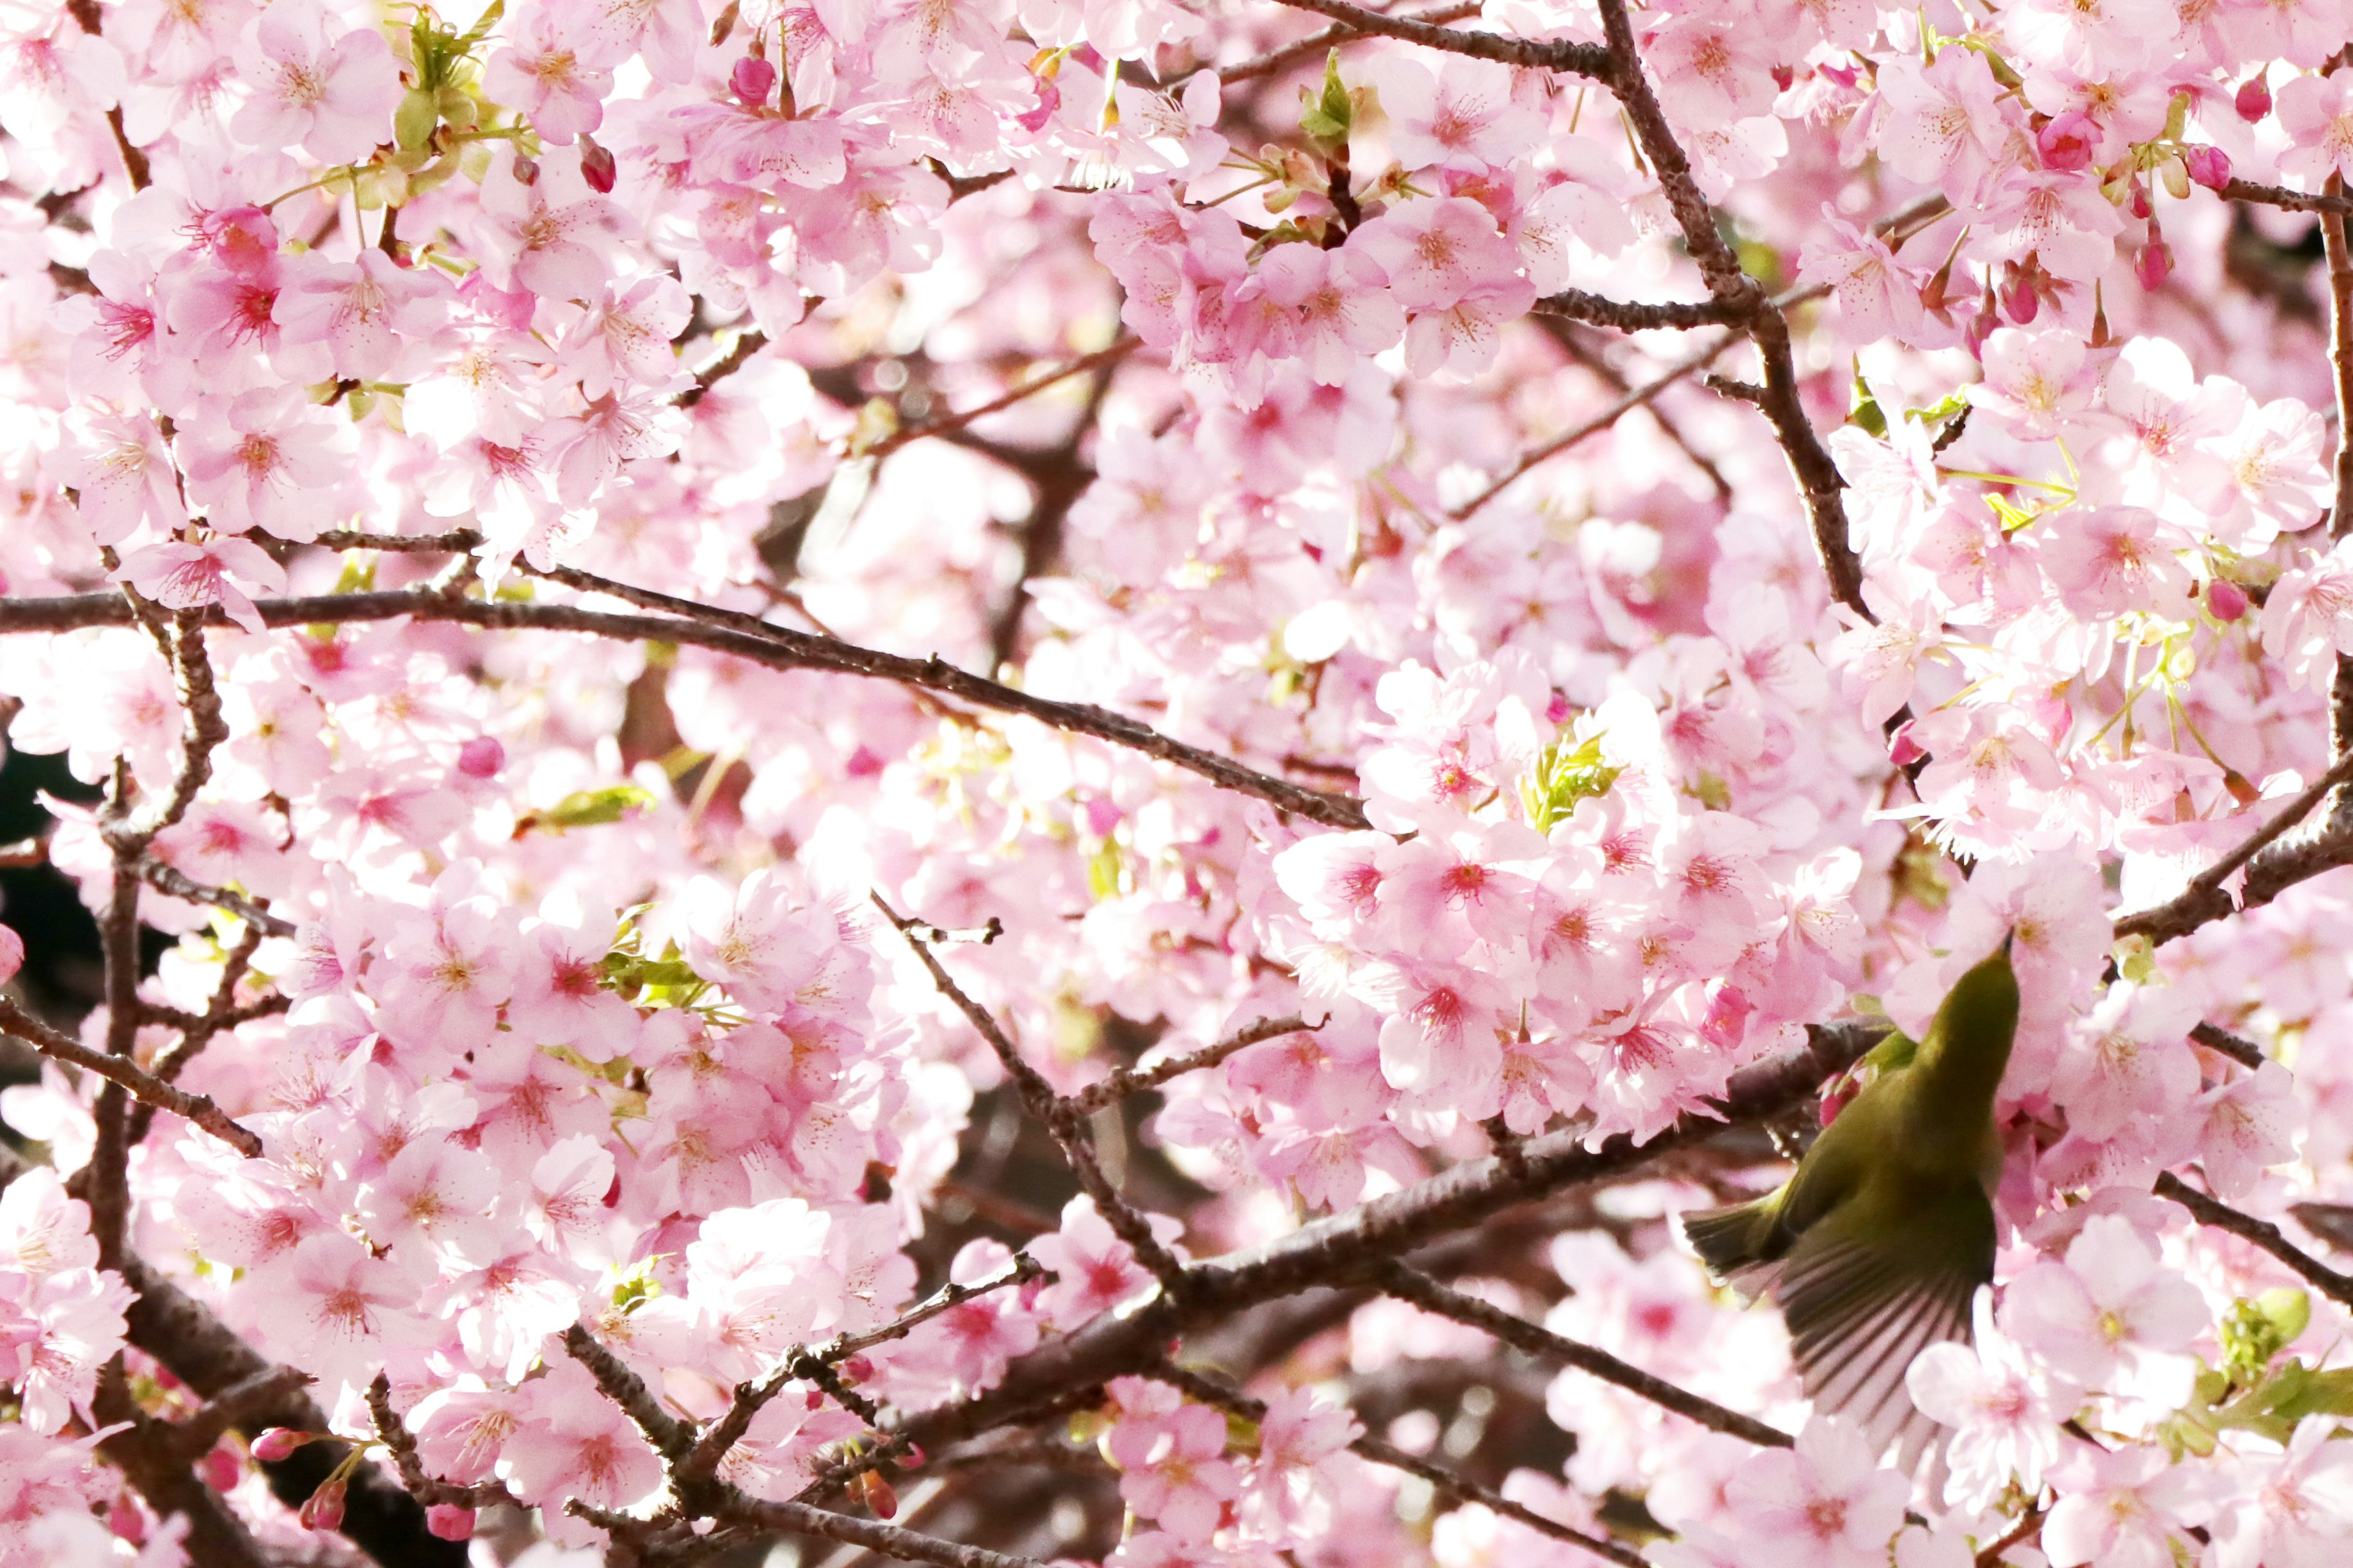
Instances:
[[[1929,1345],[1969,1338],[1969,1298],[1993,1276],[1993,1206],[1974,1175],[1854,1204],[1807,1229],[1772,1279],[1814,1410],[1852,1420],[1906,1467],[1934,1436],[1904,1373]]]

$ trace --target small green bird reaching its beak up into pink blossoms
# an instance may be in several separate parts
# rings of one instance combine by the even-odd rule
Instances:
[[[1937,1009],[1927,1039],[1889,1034],[1859,1095],[1821,1128],[1779,1190],[1682,1215],[1718,1284],[1769,1295],[1814,1410],[1857,1422],[1906,1469],[1934,1434],[1904,1373],[1939,1340],[1969,1340],[1993,1284],[1993,1187],[2002,1143],[1993,1091],[2019,1027],[2009,940]]]

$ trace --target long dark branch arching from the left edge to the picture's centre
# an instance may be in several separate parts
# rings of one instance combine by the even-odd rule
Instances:
[[[769,670],[826,670],[833,675],[887,679],[920,691],[939,691],[944,696],[974,703],[976,708],[1016,712],[1052,729],[1125,745],[1144,752],[1146,757],[1181,766],[1188,773],[1198,773],[1224,790],[1254,795],[1282,811],[1325,823],[1329,827],[1372,825],[1365,818],[1362,802],[1348,795],[1327,795],[1325,790],[1308,790],[1306,785],[1289,783],[1287,778],[1261,773],[1231,757],[1221,757],[1198,745],[1186,745],[1184,741],[1172,741],[1148,724],[1111,712],[1108,708],[1038,698],[1014,686],[958,670],[939,656],[906,658],[901,654],[861,649],[856,644],[814,637],[781,625],[762,623],[760,632],[748,632],[736,630],[734,625],[711,623],[713,614],[732,611],[704,609],[699,611],[699,618],[687,621],[619,616],[581,609],[576,604],[459,599],[421,590],[261,599],[256,609],[268,625],[341,625],[353,621],[398,621],[402,616],[412,616],[416,621],[454,621],[485,630],[553,630],[588,632],[624,642],[685,642],[718,654],[729,654]],[[125,607],[115,595],[0,599],[0,632],[66,632],[85,625],[127,625],[129,621],[129,607]],[[226,623],[226,616],[221,616],[221,621]]]

